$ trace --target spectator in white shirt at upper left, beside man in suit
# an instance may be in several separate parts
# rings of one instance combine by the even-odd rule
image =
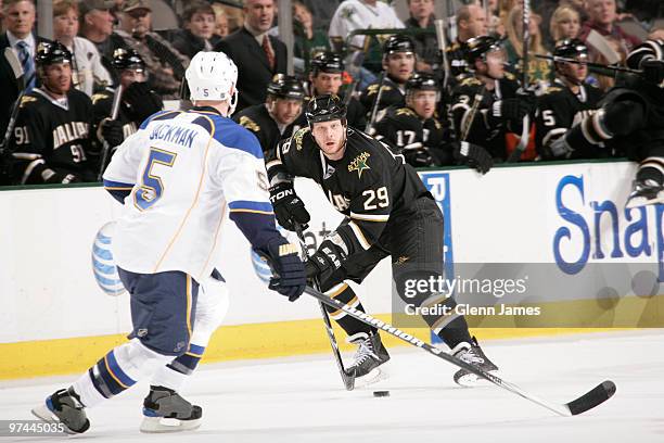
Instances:
[[[72,52],[72,81],[76,89],[92,97],[113,81],[101,64],[97,47],[78,34],[78,2],[76,0],[55,0],[53,3],[53,39],[63,43]]]

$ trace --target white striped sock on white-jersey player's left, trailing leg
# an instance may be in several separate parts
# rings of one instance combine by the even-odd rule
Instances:
[[[149,350],[138,339],[108,352],[72,384],[86,407],[94,406],[131,388],[173,356]]]

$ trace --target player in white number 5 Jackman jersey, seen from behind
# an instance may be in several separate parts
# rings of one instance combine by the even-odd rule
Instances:
[[[178,389],[218,327],[215,293],[225,288],[213,257],[227,211],[254,249],[271,258],[279,277],[270,289],[291,301],[304,291],[297,248],[276,229],[263,150],[228,118],[237,79],[226,54],[197,53],[187,69],[194,107],[152,115],[113,156],[104,186],[124,202],[113,254],[130,293],[133,330],[127,343],[33,409],[37,417],[85,432],[86,408],[152,377],[141,430],[200,426],[201,407]],[[201,284],[204,303],[197,302]]]

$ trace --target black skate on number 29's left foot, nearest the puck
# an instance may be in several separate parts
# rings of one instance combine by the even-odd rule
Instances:
[[[379,366],[390,360],[390,354],[381,342],[378,332],[358,332],[347,339],[348,343],[358,346],[355,360],[346,368],[346,372],[355,378],[355,385],[361,387],[385,378]]]

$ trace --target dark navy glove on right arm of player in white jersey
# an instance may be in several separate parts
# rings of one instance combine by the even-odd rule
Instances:
[[[261,256],[268,255],[274,273],[268,288],[288,296],[291,302],[297,300],[307,286],[305,266],[297,254],[298,248],[280,237],[268,243],[267,251],[256,252]]]

